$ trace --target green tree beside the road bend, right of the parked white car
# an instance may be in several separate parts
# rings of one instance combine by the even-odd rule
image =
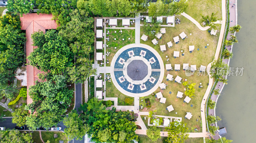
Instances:
[[[67,126],[64,129],[67,138],[76,140],[82,140],[83,136],[89,130],[87,125],[84,125],[84,121],[78,116],[76,110],[72,110],[67,117],[64,118],[63,124]]]

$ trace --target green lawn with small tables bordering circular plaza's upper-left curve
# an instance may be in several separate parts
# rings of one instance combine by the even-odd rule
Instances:
[[[116,33],[115,33],[116,31]],[[107,52],[110,52],[107,59],[109,63],[106,66],[110,66],[111,61],[116,52],[125,45],[135,43],[135,30],[134,29],[122,29],[122,34],[119,32],[120,29],[109,29],[109,41],[106,41]],[[116,40],[114,40],[116,38]],[[131,38],[128,40],[128,38]],[[123,40],[124,39],[124,40]],[[116,49],[115,49],[116,47]]]

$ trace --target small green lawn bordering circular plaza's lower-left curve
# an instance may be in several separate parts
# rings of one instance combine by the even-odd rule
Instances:
[[[124,103],[125,98],[131,98],[134,100],[133,97],[129,97],[121,93],[118,89],[116,89],[115,85],[113,82],[106,82],[106,97],[118,97],[118,104],[117,105],[122,105],[122,106],[127,106]],[[134,105],[134,102],[131,104],[131,106]]]

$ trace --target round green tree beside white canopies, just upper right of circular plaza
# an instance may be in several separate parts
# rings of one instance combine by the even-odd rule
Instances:
[[[160,32],[160,28],[161,26],[159,21],[156,21],[154,18],[152,18],[151,23],[147,23],[146,20],[144,20],[144,24],[142,26],[144,34],[148,35],[149,37],[153,37],[156,35],[156,33]]]

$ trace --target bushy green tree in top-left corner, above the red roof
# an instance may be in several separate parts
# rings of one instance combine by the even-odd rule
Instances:
[[[8,1],[7,9],[15,14],[20,13],[22,16],[23,13],[32,13],[34,6],[32,2],[28,2],[27,0],[10,0]]]

